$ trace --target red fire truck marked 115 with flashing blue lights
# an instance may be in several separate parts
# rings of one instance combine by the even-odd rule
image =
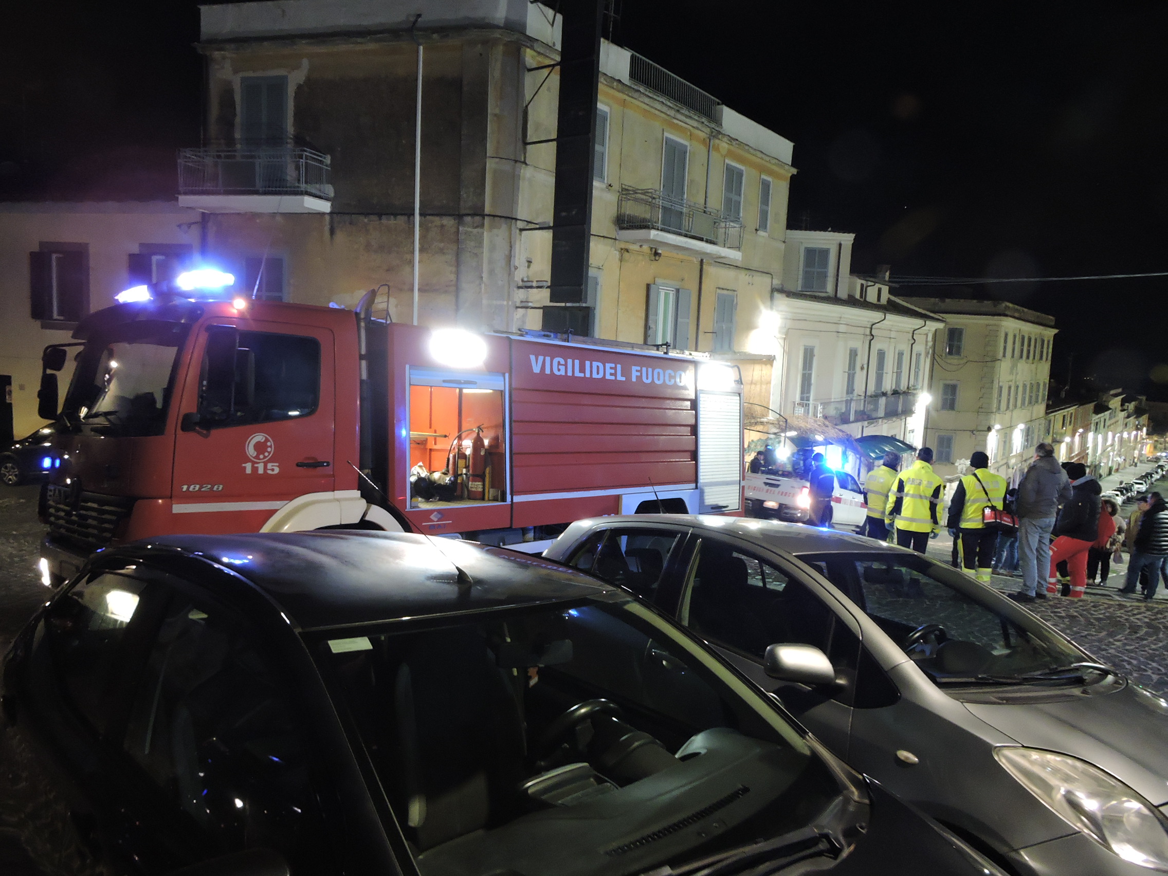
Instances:
[[[540,549],[584,516],[741,513],[742,385],[724,364],[387,324],[371,296],[353,312],[131,292],[44,350],[47,584],[95,549],[171,533],[404,529]]]

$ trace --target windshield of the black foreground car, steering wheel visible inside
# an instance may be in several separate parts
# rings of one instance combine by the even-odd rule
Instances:
[[[319,659],[423,876],[676,868],[841,793],[770,701],[627,597],[394,626]]]

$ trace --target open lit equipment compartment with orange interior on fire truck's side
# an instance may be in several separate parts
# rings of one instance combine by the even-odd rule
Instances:
[[[410,369],[410,507],[507,501],[501,374]]]

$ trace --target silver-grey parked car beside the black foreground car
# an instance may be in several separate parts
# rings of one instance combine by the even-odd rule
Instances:
[[[572,523],[544,556],[653,602],[1010,872],[1168,872],[1168,701],[919,554],[772,521]]]

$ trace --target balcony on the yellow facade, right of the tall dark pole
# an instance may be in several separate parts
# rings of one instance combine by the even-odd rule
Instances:
[[[742,221],[655,188],[621,186],[617,239],[696,258],[742,260]]]

